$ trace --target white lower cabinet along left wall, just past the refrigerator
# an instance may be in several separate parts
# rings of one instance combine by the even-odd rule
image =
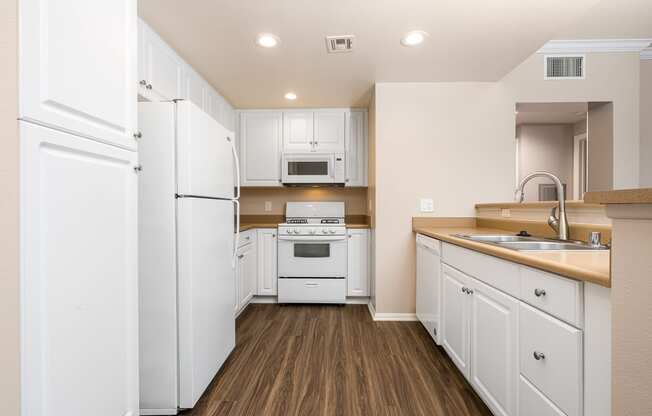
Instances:
[[[243,243],[236,253],[236,284],[235,284],[235,314],[238,315],[249,304],[256,294],[258,263],[256,232],[248,231],[242,234],[240,242]]]

